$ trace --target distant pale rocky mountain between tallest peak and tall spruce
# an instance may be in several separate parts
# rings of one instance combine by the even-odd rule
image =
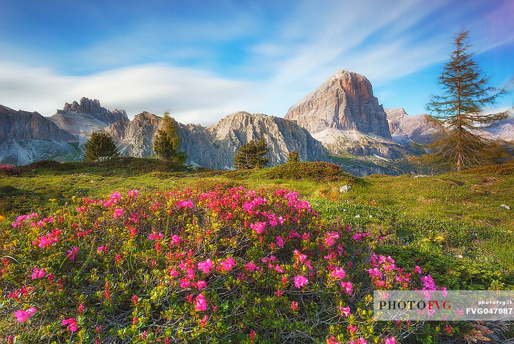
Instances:
[[[429,144],[444,130],[443,126],[431,120],[426,113],[409,116],[403,108],[386,109],[389,129],[393,141],[410,145]]]

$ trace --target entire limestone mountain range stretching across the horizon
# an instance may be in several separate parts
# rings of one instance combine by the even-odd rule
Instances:
[[[94,131],[108,133],[121,155],[148,157],[161,123],[162,117],[146,111],[129,120],[124,110],[108,110],[85,97],[65,103],[51,117],[0,106],[0,162],[81,159]],[[232,168],[242,144],[261,138],[268,144],[272,165],[284,163],[291,150],[309,161],[348,154],[394,161],[412,154],[412,143],[430,143],[441,130],[426,114],[384,109],[370,81],[345,70],[291,106],[284,118],[238,111],[208,126],[175,124],[187,163],[222,169]],[[512,140],[514,126],[511,120],[498,123],[484,128],[483,135]]]

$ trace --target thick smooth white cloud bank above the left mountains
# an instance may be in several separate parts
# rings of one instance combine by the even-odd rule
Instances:
[[[0,63],[2,105],[38,111],[44,116],[81,97],[99,99],[106,108],[125,109],[130,117],[143,110],[171,109],[182,123],[210,124],[245,110],[255,99],[251,83],[216,77],[211,72],[164,64],[138,65],[83,77]],[[5,100],[9,100],[5,103]]]

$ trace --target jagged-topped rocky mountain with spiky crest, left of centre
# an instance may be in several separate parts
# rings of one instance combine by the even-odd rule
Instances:
[[[62,129],[85,141],[92,132],[104,131],[109,124],[128,122],[125,110],[108,110],[100,105],[98,99],[81,98],[80,103],[65,103],[62,110],[50,117]]]

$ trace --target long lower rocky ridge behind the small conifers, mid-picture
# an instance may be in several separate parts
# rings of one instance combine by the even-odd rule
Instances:
[[[106,131],[123,154],[145,157],[152,154],[152,138],[160,125],[160,117],[142,112],[133,121],[116,122]],[[284,163],[291,150],[298,151],[304,160],[320,160],[327,154],[322,144],[296,123],[260,113],[232,113],[207,127],[178,122],[175,125],[180,150],[186,152],[188,163],[204,167],[231,168],[237,149],[260,138],[268,144],[272,165]]]

